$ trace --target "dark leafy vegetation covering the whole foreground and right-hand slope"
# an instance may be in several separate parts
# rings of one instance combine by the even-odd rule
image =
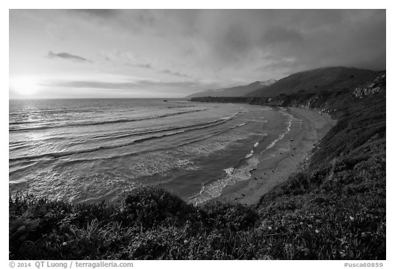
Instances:
[[[16,194],[10,259],[385,259],[385,91],[341,94],[307,166],[254,208],[150,187],[119,204]]]

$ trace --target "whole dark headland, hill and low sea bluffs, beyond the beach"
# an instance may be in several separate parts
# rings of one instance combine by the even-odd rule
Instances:
[[[318,68],[289,75],[274,84],[239,97],[193,97],[191,101],[248,103],[315,109],[335,116],[357,98],[385,91],[385,71],[342,66]]]

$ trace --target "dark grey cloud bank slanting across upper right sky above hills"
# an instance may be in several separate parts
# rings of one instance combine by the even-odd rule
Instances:
[[[212,68],[261,62],[256,71],[285,75],[325,66],[385,69],[385,10],[91,10],[86,18],[172,40]],[[193,43],[193,42],[192,42]],[[175,44],[178,45],[178,44]],[[254,57],[254,59],[252,59]]]

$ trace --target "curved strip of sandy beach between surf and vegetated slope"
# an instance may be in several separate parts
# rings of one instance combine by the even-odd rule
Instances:
[[[289,132],[261,154],[250,179],[226,186],[218,200],[258,203],[263,194],[296,172],[313,146],[335,125],[330,115],[316,110],[287,107],[285,113],[293,116]]]

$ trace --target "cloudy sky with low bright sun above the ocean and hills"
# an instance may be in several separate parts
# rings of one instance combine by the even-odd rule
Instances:
[[[385,10],[10,10],[9,98],[171,98],[385,70]]]

